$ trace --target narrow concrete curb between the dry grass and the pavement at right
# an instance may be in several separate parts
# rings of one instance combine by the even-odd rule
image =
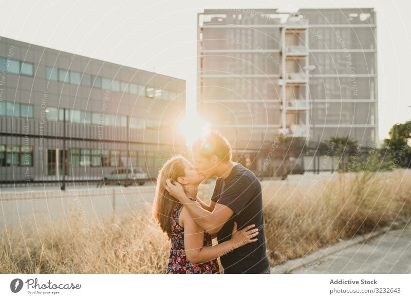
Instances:
[[[348,247],[360,244],[362,242],[366,242],[369,239],[375,238],[381,234],[385,234],[390,229],[393,229],[393,225],[389,227],[381,228],[378,231],[373,231],[365,235],[356,236],[349,240],[340,239],[340,242],[338,242],[337,244],[317,250],[316,252],[306,257],[291,259],[291,260],[286,261],[286,263],[284,264],[271,267],[271,274],[273,273],[292,273],[292,271],[295,271],[297,269],[300,269],[302,267],[315,263],[315,261],[320,260],[321,258],[324,258],[330,254],[337,253]]]

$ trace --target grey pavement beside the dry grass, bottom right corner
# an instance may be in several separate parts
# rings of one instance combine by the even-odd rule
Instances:
[[[340,241],[271,273],[411,273],[411,225]]]

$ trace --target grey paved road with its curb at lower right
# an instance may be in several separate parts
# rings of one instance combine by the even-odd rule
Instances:
[[[284,273],[287,263],[273,268],[271,273]],[[288,273],[411,273],[411,224]]]

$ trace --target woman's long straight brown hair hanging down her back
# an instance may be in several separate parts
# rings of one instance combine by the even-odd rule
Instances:
[[[172,182],[177,181],[178,177],[185,176],[184,162],[185,158],[181,155],[175,156],[161,167],[157,176],[157,188],[154,205],[154,217],[157,220],[161,230],[167,234],[170,238],[172,235],[171,230],[171,217],[174,206],[177,202],[170,193],[165,190],[165,181],[171,179]]]

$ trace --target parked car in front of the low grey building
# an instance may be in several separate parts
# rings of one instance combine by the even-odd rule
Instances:
[[[148,179],[148,174],[141,167],[119,167],[109,174],[105,174],[103,180],[97,186],[114,184],[127,187],[136,183],[142,186]]]

